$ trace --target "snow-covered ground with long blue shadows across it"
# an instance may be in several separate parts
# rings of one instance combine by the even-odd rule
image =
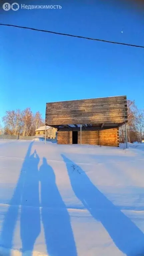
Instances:
[[[0,140],[0,255],[144,255],[144,145],[128,146]]]

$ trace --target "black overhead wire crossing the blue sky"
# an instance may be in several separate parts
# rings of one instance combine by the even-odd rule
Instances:
[[[16,25],[11,25],[11,24],[2,24],[2,23],[0,23],[0,25],[1,25],[1,26],[15,27],[15,28],[30,29],[30,30],[41,31],[41,32],[47,32],[47,33],[56,34],[56,35],[62,35],[62,36],[71,36],[71,37],[83,38],[83,39],[94,40],[94,41],[100,41],[100,42],[111,43],[111,44],[121,44],[121,45],[127,45],[127,46],[133,46],[133,47],[144,48],[144,46],[142,46],[142,45],[134,45],[134,44],[119,43],[119,42],[113,42],[113,41],[108,41],[108,40],[103,40],[103,39],[97,39],[97,38],[91,38],[91,37],[84,37],[84,36],[76,36],[76,35],[65,34],[65,33],[58,33],[58,32],[54,32],[54,31],[43,30],[43,29],[37,29],[37,28],[29,28],[29,27],[22,27],[22,26],[16,26]]]

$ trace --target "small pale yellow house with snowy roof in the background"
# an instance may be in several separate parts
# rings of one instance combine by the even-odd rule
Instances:
[[[41,126],[35,130],[35,136],[45,137],[45,126]],[[46,126],[46,138],[47,139],[55,139],[56,138],[57,129],[51,126]]]

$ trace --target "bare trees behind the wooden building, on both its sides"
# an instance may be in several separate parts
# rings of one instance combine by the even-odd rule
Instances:
[[[128,106],[128,123],[127,136],[128,142],[144,140],[144,109],[139,109],[135,101],[127,100]],[[2,121],[4,128],[0,126],[0,134],[34,136],[35,130],[45,125],[45,120],[39,111],[32,113],[31,108],[23,111],[11,110],[6,111]],[[119,128],[120,142],[125,142],[125,125]]]

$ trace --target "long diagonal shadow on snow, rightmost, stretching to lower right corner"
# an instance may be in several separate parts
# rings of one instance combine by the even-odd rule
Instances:
[[[103,195],[86,173],[74,162],[62,155],[67,166],[72,189],[91,215],[102,223],[115,245],[127,256],[144,253],[143,232]]]

